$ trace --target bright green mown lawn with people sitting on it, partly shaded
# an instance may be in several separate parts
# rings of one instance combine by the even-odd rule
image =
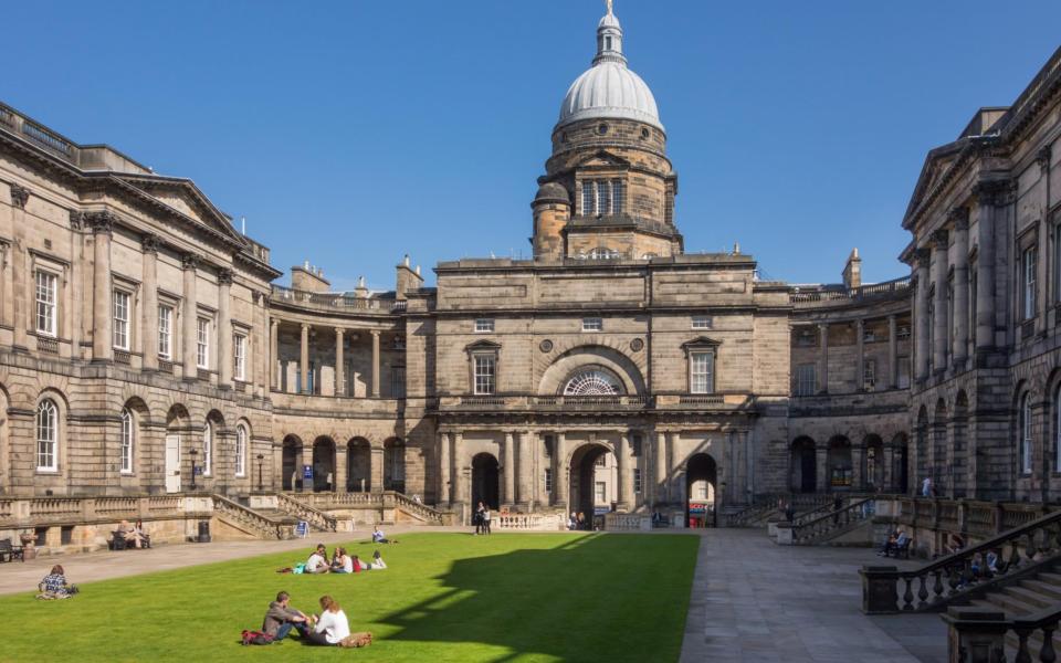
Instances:
[[[66,601],[0,598],[2,661],[676,661],[697,537],[413,534],[390,566],[288,576],[279,554],[82,585]],[[370,544],[351,554],[370,557]],[[189,549],[191,550],[191,549]],[[177,549],[174,550],[177,554]],[[308,546],[307,546],[308,554]],[[71,567],[76,567],[70,564]],[[76,578],[72,578],[74,582]],[[365,650],[241,646],[280,590],[318,612],[330,593]]]

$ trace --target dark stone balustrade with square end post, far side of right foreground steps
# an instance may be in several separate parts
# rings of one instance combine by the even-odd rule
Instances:
[[[1061,554],[1061,512],[1009,529],[988,540],[910,571],[895,567],[863,567],[862,610],[869,614],[939,610],[952,601],[968,600],[985,580],[973,572],[986,565],[987,555],[998,556],[998,578],[1027,569]],[[902,586],[902,596],[900,596]]]

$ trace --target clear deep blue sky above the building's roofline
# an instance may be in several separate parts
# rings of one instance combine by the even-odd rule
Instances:
[[[17,2],[0,99],[78,143],[189,177],[287,270],[339,290],[528,254],[529,201],[600,0]],[[1023,0],[617,0],[680,176],[686,250],[765,276],[906,272],[925,152],[1009,104],[1059,45]]]

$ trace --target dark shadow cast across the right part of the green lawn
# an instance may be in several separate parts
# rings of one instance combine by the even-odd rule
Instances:
[[[676,660],[693,566],[662,543],[588,535],[549,549],[459,559],[438,577],[440,593],[380,621],[399,629],[391,640],[506,648],[495,661]]]

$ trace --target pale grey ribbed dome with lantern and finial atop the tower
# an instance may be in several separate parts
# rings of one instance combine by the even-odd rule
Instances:
[[[557,128],[591,118],[633,119],[663,129],[652,91],[627,67],[622,27],[611,12],[597,27],[593,65],[575,80],[560,105]]]

